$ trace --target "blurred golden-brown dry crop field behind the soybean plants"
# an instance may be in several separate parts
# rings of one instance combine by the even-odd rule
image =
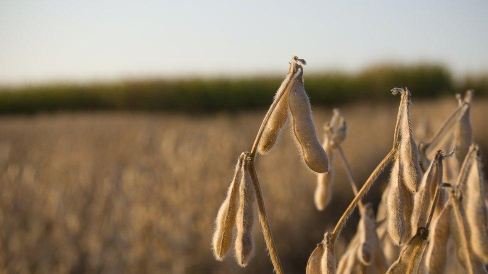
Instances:
[[[413,125],[425,117],[435,129],[456,104],[454,98],[414,101]],[[481,151],[488,151],[486,109],[488,101],[475,97],[471,120]],[[362,184],[390,148],[397,105],[341,110],[348,124],[342,147]],[[231,255],[216,262],[210,250],[236,158],[251,146],[264,112],[0,117],[2,272],[270,273],[257,218],[255,255],[246,268]],[[319,139],[331,113],[314,109]],[[337,163],[332,206],[322,212],[313,203],[316,176],[300,163],[289,134],[258,157],[256,169],[281,264],[287,273],[303,273],[324,230],[353,198],[343,169]],[[378,204],[387,177],[364,201]],[[337,242],[337,258],[357,215]]]

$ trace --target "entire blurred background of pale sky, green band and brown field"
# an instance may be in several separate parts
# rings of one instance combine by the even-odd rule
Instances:
[[[0,274],[271,273],[260,227],[245,268],[216,262],[213,221],[237,157],[296,54],[322,138],[332,108],[362,184],[389,151],[398,96],[432,130],[474,89],[488,167],[488,1],[0,1]],[[258,156],[286,273],[352,199],[331,204],[286,129]],[[385,172],[365,201],[376,208]],[[255,214],[257,215],[257,214]],[[337,244],[356,229],[354,213]]]

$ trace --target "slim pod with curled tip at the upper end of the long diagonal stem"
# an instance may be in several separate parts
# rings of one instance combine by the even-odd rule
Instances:
[[[402,168],[403,182],[411,191],[417,191],[418,184],[422,179],[422,170],[420,169],[420,158],[417,145],[413,140],[410,104],[411,96],[408,89],[393,89],[393,94],[401,93],[401,119],[399,124],[400,142],[399,156]]]

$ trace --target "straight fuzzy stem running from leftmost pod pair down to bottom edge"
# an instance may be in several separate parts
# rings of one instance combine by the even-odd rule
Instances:
[[[254,162],[252,161],[251,156],[247,158],[247,166],[249,168],[249,175],[251,177],[252,185],[254,186],[254,191],[256,193],[257,208],[259,210],[259,222],[261,223],[262,234],[264,235],[266,248],[269,252],[269,257],[271,258],[274,271],[277,274],[282,274],[283,269],[281,268],[281,263],[279,262],[278,253],[276,251],[276,246],[274,245],[273,235],[271,234],[271,228],[269,226],[266,209],[264,208],[264,201],[262,199],[261,187],[259,186],[256,169],[254,168]]]

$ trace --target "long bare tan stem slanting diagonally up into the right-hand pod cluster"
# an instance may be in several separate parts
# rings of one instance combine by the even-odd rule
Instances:
[[[342,216],[340,217],[339,221],[335,225],[334,230],[332,231],[332,235],[330,237],[330,242],[332,243],[332,247],[335,245],[335,240],[337,239],[337,235],[340,233],[342,230],[342,227],[345,224],[345,221],[351,214],[352,210],[356,207],[357,201],[359,201],[362,196],[367,192],[369,187],[374,183],[374,181],[378,178],[379,174],[381,171],[384,169],[384,167],[393,159],[394,155],[396,154],[396,147],[394,146],[388,154],[381,160],[379,165],[373,170],[371,175],[369,175],[369,178],[367,178],[366,182],[364,185],[362,185],[361,189],[357,193],[356,197],[352,200],[352,202],[349,204],[347,209],[344,211]]]

